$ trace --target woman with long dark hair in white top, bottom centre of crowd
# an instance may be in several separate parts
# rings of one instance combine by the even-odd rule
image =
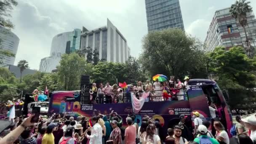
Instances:
[[[143,144],[147,144],[147,142],[151,142],[152,144],[161,144],[160,137],[155,135],[155,125],[149,124],[146,129],[146,136],[144,137]]]

